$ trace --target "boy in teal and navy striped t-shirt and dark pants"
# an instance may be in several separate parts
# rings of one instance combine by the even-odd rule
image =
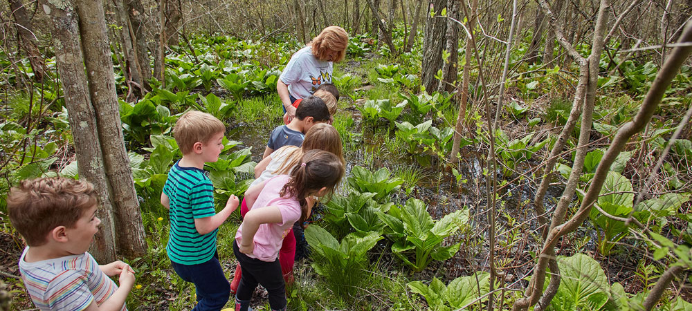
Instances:
[[[217,214],[214,187],[204,171],[205,162],[219,160],[224,131],[224,123],[208,113],[182,115],[173,137],[183,158],[168,172],[161,194],[171,222],[166,252],[181,279],[194,283],[197,305],[192,310],[221,310],[230,296],[216,243],[219,225],[238,207],[238,198],[230,196]]]

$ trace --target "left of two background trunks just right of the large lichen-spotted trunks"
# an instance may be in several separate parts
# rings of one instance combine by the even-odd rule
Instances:
[[[136,84],[132,85],[131,82],[127,82],[130,91],[129,96],[127,96],[125,100],[129,102],[134,100],[135,96],[144,96],[142,89],[143,81],[139,73],[139,67],[137,66],[134,49],[132,48],[132,38],[129,35],[129,16],[127,15],[127,10],[125,10],[125,5],[122,3],[122,0],[113,0],[113,6],[116,8],[116,21],[118,21],[118,27],[120,28],[118,30],[118,35],[120,35],[122,55],[125,58],[125,68],[122,70],[126,73],[126,77],[129,77],[129,79]]]

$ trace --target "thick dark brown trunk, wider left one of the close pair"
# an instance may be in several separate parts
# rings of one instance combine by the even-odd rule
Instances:
[[[428,93],[437,90],[437,70],[442,68],[442,48],[446,43],[444,35],[447,30],[447,21],[439,17],[440,12],[447,6],[447,0],[430,0],[428,6],[428,19],[426,32],[423,39],[423,61],[421,70],[421,85]],[[430,10],[435,11],[435,16],[430,16]]]

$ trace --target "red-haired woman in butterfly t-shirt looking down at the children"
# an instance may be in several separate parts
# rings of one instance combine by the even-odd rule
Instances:
[[[339,26],[329,26],[291,56],[276,84],[276,91],[289,122],[295,116],[295,100],[312,95],[322,84],[331,83],[334,62],[340,62],[344,58],[347,46],[346,30]]]

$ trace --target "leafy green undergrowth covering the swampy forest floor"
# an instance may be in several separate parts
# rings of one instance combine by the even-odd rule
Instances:
[[[395,46],[403,46],[403,30],[397,28],[393,35]],[[419,42],[410,53],[395,55],[385,44],[378,48],[367,39],[372,38],[357,35],[349,41],[346,60],[358,65],[335,65],[332,81],[342,96],[334,127],[343,140],[348,173],[305,231],[312,256],[295,267],[289,310],[485,310],[491,285],[486,272],[489,236],[483,234],[488,226],[484,191],[489,176],[496,176],[499,184],[493,193],[500,219],[495,261],[504,273],[493,288],[506,287],[495,292],[495,308],[509,310],[522,296],[527,283],[523,278],[530,276],[527,263],[533,263],[535,254],[529,249],[542,241],[530,201],[542,177],[541,161],[572,109],[576,77],[569,73],[578,70],[577,65],[545,68],[522,63],[519,59],[531,37],[518,42],[511,55],[517,75],[507,82],[518,100],[500,110],[499,128],[493,131],[498,169],[487,171],[484,163],[492,154],[489,127],[478,103],[496,99],[481,99],[480,84],[469,86],[472,100],[462,115],[461,156],[459,162],[448,162],[458,93],[421,89]],[[116,80],[122,97],[120,121],[149,245],[146,256],[128,261],[136,269],[138,284],[127,301],[130,310],[188,310],[195,302],[194,286],[176,276],[165,253],[170,223],[159,198],[167,171],[181,157],[172,127],[188,109],[222,120],[228,129],[225,147],[206,170],[215,186],[217,208],[230,195],[242,196],[269,132],[281,122],[277,78],[301,46],[295,40],[282,41],[286,42],[192,36],[190,46],[172,46],[166,55],[165,84],[153,79],[152,91],[134,102],[125,101],[127,85]],[[190,48],[196,58],[187,56]],[[457,54],[463,59],[463,50]],[[57,77],[44,84],[33,82],[27,62],[16,62],[13,66],[19,69],[9,62],[0,54],[0,85],[7,107],[0,113],[0,214],[2,234],[16,253],[23,245],[4,218],[8,189],[24,178],[78,178],[78,173],[64,95],[53,81]],[[54,68],[54,59],[47,64]],[[601,66],[607,72],[616,65],[605,57]],[[624,75],[599,76],[592,144],[569,216],[588,191],[612,135],[639,109],[659,65],[650,59],[626,60],[619,69]],[[116,77],[123,76],[120,66],[115,70]],[[471,72],[473,79],[477,70]],[[610,167],[588,223],[563,238],[558,254],[568,256],[557,257],[562,281],[548,310],[636,309],[666,267],[692,262],[689,124],[682,124],[688,127],[680,139],[671,141],[692,103],[691,75],[690,68],[682,68],[657,118]],[[19,84],[18,77],[30,87]],[[569,151],[558,156],[553,193],[564,187],[572,170],[579,125],[581,120],[567,137]],[[653,171],[666,147],[671,153]],[[644,186],[650,176],[653,182]],[[549,209],[557,200],[558,194],[550,194]],[[235,266],[231,245],[240,224],[237,214],[219,230],[219,256],[229,279],[230,267]],[[630,215],[646,225],[647,235],[622,221]],[[623,266],[623,272],[612,265]],[[3,278],[15,293],[15,303],[30,308],[21,281]],[[667,292],[659,309],[692,308],[679,296],[668,298],[673,296]],[[263,303],[253,308],[267,310]]]

